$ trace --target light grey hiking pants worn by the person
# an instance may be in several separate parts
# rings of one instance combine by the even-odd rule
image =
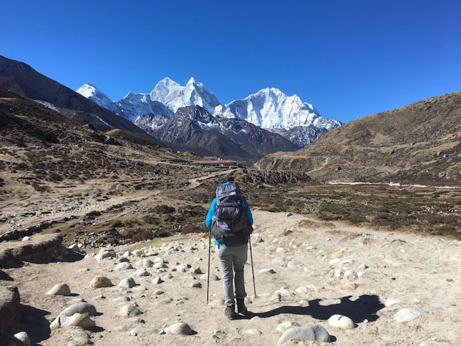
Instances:
[[[236,298],[245,298],[245,282],[243,280],[243,267],[247,262],[248,244],[241,246],[219,246],[216,245],[216,255],[221,268],[224,303],[226,306],[232,306],[234,302],[233,280],[235,276],[235,296]]]

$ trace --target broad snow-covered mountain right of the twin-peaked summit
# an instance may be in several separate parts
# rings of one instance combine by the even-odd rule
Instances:
[[[214,115],[243,119],[270,130],[290,130],[296,126],[331,130],[341,126],[337,120],[322,117],[310,103],[301,101],[299,96],[288,96],[277,88],[262,89],[243,100],[217,107]]]

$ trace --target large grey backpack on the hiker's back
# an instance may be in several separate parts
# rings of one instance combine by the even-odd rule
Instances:
[[[216,189],[216,221],[211,232],[220,244],[243,245],[253,232],[237,184],[221,185]]]

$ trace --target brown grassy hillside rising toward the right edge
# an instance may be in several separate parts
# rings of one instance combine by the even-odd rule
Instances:
[[[461,92],[353,120],[255,167],[304,171],[325,181],[459,184]]]

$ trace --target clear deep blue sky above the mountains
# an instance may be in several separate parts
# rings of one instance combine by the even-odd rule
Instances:
[[[193,76],[347,122],[461,89],[461,1],[10,1],[0,55],[112,100]]]

